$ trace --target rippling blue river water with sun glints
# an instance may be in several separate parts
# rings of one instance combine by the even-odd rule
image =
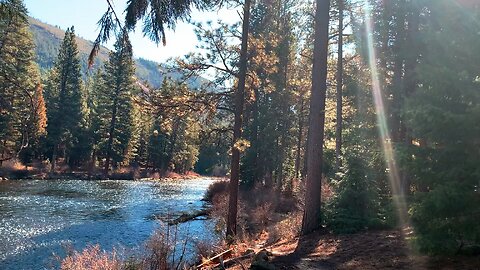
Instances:
[[[160,226],[203,207],[214,180],[168,182],[22,180],[0,182],[0,269],[52,269],[67,247],[134,250]],[[181,224],[181,237],[211,240],[209,220]]]

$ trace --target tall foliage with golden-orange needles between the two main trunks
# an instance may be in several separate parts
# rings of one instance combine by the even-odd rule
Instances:
[[[295,39],[293,3],[260,1],[252,11],[249,43],[249,82],[245,138],[250,142],[242,159],[241,181],[282,187],[294,177],[296,145],[295,105],[291,69],[294,69]]]

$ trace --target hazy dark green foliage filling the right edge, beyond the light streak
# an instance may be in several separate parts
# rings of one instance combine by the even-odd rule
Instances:
[[[474,64],[480,40],[471,34],[478,24],[470,21],[480,11],[447,1],[429,5],[422,36],[430,46],[418,67],[420,87],[405,111],[419,142],[406,150],[415,177],[410,213],[421,251],[454,254],[480,245],[480,83]]]

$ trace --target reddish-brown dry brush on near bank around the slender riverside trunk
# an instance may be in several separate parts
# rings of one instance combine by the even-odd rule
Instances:
[[[211,217],[216,230],[224,233],[228,209],[228,182],[213,183],[205,195],[212,203]],[[240,190],[237,219],[237,251],[293,239],[301,224],[300,201],[295,195],[256,186]]]

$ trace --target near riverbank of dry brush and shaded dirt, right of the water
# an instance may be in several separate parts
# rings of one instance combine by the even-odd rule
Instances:
[[[211,216],[225,217],[225,182],[213,183],[207,197],[213,203]],[[327,230],[299,237],[303,202],[299,196],[256,188],[240,190],[238,239],[226,269],[480,269],[480,256],[428,256],[412,246],[408,230],[366,230],[334,234]],[[255,256],[246,256],[247,254]],[[214,256],[213,254],[212,256]],[[233,258],[233,259],[232,259]],[[235,263],[236,261],[236,263]],[[257,266],[255,266],[257,265]]]

